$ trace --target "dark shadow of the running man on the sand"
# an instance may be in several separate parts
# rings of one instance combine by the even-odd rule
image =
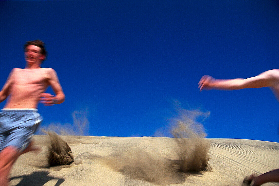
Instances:
[[[59,186],[61,183],[65,181],[65,179],[62,178],[49,176],[48,171],[36,171],[30,175],[11,177],[10,180],[18,178],[20,178],[21,181],[18,184],[16,184],[16,186],[43,186],[45,183],[53,179],[57,180],[54,186]]]

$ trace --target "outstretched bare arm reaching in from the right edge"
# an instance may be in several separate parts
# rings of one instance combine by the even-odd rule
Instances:
[[[258,76],[242,79],[218,80],[211,76],[203,76],[199,81],[199,90],[203,89],[221,89],[221,90],[238,90],[242,88],[260,88],[274,87],[279,82],[279,69],[265,71]]]

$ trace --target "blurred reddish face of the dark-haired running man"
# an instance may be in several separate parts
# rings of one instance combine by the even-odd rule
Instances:
[[[44,60],[45,56],[41,54],[41,48],[35,45],[28,45],[24,51],[25,61],[32,65],[35,62]]]

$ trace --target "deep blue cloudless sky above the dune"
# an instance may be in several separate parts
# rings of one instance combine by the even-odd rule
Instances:
[[[39,105],[43,127],[86,112],[92,136],[168,130],[175,102],[210,116],[208,138],[279,142],[269,88],[198,90],[201,76],[248,78],[278,68],[278,1],[0,1],[0,85],[40,39],[66,101]],[[51,89],[47,92],[52,93]],[[0,103],[0,107],[5,102]]]

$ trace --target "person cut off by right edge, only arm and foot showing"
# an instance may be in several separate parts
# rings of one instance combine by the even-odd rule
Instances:
[[[242,79],[217,80],[205,75],[199,81],[199,90],[239,90],[242,88],[269,87],[279,101],[279,69],[265,71],[258,76]],[[245,178],[243,185],[259,186],[267,182],[279,182],[279,169],[266,172],[259,176],[254,174]]]

